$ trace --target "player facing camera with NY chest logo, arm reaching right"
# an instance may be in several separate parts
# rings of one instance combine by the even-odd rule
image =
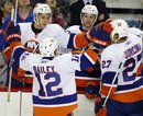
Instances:
[[[37,51],[38,42],[45,37],[56,38],[56,40],[59,44],[59,48],[64,50],[65,48],[66,49],[81,48],[86,46],[88,43],[91,43],[94,40],[95,43],[97,43],[97,46],[107,46],[109,44],[109,39],[106,36],[108,36],[109,33],[112,31],[110,24],[102,25],[102,31],[98,30],[96,31],[95,27],[88,34],[81,33],[76,35],[76,34],[69,34],[68,32],[64,31],[58,24],[51,24],[52,11],[46,3],[37,3],[33,10],[33,13],[34,13],[34,23],[20,24],[21,43],[29,51],[38,53]],[[8,56],[8,59],[10,59],[9,49],[6,50],[6,54]],[[25,83],[32,83],[32,78],[30,78],[32,73],[30,73],[26,70],[25,72],[26,72],[26,74],[24,76]],[[16,72],[13,73],[12,82],[16,81],[15,84],[16,86],[22,85],[23,78],[21,77],[21,73],[19,74],[20,76],[18,76]]]

